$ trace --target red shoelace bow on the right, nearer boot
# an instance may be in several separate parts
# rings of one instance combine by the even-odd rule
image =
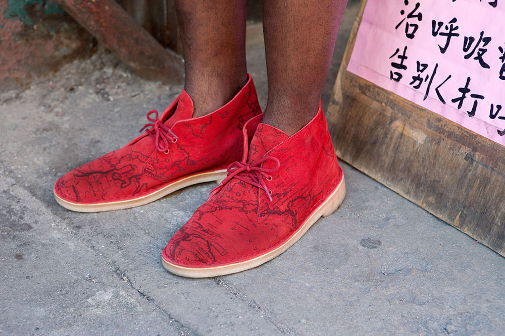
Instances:
[[[267,160],[272,160],[276,163],[273,168],[264,168],[261,164]],[[218,184],[218,186],[210,191],[210,193],[214,193],[219,188],[223,187],[228,181],[235,178],[245,183],[251,184],[258,188],[265,190],[267,193],[268,199],[272,201],[272,192],[268,190],[264,178],[267,178],[268,181],[272,179],[270,173],[277,171],[280,167],[281,163],[276,157],[273,156],[264,156],[263,158],[252,161],[251,163],[247,163],[244,161],[235,161],[228,166],[228,175],[226,178]]]

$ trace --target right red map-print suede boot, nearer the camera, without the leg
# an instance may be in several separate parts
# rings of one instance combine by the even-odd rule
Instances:
[[[261,265],[293,245],[345,196],[342,169],[321,107],[289,137],[259,124],[244,129],[244,157],[162,252],[172,273],[208,277]],[[254,131],[253,131],[254,132]]]

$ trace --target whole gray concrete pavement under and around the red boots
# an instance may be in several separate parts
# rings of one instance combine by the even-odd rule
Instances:
[[[356,11],[350,2],[325,104]],[[248,34],[264,104],[261,26]],[[180,89],[100,50],[0,95],[0,334],[504,333],[505,258],[345,163],[337,212],[278,258],[217,278],[172,275],[160,257],[213,183],[112,212],[55,202],[58,177],[126,144]]]

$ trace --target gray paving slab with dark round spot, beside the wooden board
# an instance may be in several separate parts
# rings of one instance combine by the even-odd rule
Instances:
[[[347,165],[344,174],[337,212],[280,257],[224,279],[302,334],[505,330],[501,256]]]

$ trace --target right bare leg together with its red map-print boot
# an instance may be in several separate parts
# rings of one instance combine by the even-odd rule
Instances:
[[[343,8],[278,0],[264,6],[268,115],[249,145],[244,132],[242,161],[228,167],[227,178],[163,250],[163,266],[179,275],[224,275],[267,262],[345,195],[320,107]],[[323,27],[313,27],[318,23]]]

